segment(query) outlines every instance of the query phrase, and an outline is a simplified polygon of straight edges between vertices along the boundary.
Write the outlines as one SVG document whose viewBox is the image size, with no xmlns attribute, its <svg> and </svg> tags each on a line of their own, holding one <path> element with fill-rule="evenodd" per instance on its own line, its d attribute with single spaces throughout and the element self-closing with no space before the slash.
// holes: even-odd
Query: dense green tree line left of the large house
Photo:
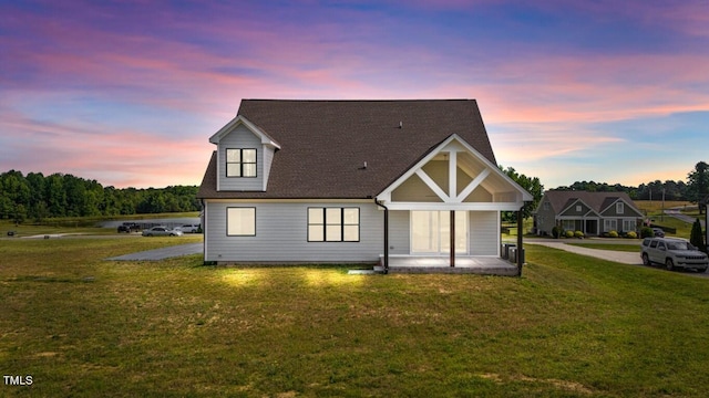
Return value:
<svg viewBox="0 0 709 398">
<path fill-rule="evenodd" d="M 100 217 L 199 211 L 198 187 L 162 189 L 103 187 L 70 174 L 10 170 L 0 174 L 0 219 L 42 222 L 59 217 Z"/>
</svg>

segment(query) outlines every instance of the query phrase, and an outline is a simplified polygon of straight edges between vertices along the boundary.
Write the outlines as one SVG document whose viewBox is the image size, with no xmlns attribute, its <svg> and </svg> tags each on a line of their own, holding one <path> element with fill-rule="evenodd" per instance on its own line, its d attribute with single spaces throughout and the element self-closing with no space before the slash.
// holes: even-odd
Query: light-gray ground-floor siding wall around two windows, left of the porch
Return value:
<svg viewBox="0 0 709 398">
<path fill-rule="evenodd" d="M 229 207 L 256 208 L 255 237 L 227 237 Z M 360 209 L 359 242 L 308 242 L 309 207 Z M 205 261 L 234 263 L 352 263 L 379 261 L 383 211 L 373 202 L 207 201 Z"/>
</svg>

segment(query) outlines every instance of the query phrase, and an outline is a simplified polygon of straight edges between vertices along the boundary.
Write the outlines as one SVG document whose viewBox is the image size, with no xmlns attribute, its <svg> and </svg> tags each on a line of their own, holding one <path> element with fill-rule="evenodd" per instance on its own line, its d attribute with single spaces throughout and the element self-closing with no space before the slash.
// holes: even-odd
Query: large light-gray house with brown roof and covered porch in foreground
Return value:
<svg viewBox="0 0 709 398">
<path fill-rule="evenodd" d="M 532 200 L 472 100 L 244 100 L 209 142 L 205 262 L 499 258 L 500 212 Z"/>
</svg>

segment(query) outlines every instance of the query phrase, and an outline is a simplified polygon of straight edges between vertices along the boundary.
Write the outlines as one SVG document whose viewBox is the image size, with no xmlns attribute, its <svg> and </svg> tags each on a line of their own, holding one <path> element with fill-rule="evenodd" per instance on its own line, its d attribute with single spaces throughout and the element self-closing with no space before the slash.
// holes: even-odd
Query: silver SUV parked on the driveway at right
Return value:
<svg viewBox="0 0 709 398">
<path fill-rule="evenodd" d="M 709 256 L 689 242 L 677 238 L 645 238 L 640 247 L 643 264 L 665 264 L 669 271 L 675 268 L 707 271 Z"/>
</svg>

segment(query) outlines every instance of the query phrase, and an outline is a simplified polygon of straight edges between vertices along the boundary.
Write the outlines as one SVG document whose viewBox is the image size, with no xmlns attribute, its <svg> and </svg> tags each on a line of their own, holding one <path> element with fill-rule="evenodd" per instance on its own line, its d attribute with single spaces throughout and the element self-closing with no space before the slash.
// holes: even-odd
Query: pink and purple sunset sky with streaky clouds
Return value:
<svg viewBox="0 0 709 398">
<path fill-rule="evenodd" d="M 709 161 L 706 0 L 0 0 L 0 171 L 198 185 L 242 98 L 475 98 L 546 188 Z"/>
</svg>

